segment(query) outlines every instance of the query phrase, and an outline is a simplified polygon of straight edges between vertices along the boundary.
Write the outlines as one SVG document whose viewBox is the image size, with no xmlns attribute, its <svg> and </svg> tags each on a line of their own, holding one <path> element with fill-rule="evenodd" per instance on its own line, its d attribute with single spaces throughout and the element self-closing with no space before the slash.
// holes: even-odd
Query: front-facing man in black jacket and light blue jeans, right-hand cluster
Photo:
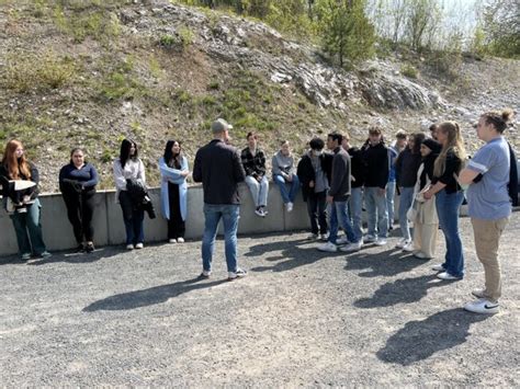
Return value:
<svg viewBox="0 0 520 389">
<path fill-rule="evenodd" d="M 365 165 L 364 202 L 369 213 L 369 233 L 365 243 L 386 244 L 388 211 L 386 209 L 386 184 L 388 183 L 388 149 L 378 127 L 369 129 L 369 139 L 363 146 Z M 377 227 L 376 227 L 377 221 Z"/>
</svg>

